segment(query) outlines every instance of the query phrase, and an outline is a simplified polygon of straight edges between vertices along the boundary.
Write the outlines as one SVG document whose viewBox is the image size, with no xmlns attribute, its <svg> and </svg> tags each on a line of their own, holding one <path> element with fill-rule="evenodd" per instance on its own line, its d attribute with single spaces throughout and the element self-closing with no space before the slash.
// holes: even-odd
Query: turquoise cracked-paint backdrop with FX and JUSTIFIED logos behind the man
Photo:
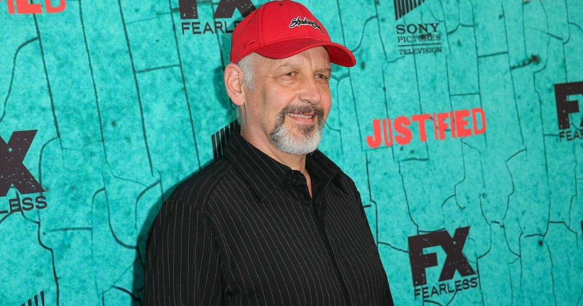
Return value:
<svg viewBox="0 0 583 306">
<path fill-rule="evenodd" d="M 262 0 L 0 0 L 0 304 L 141 305 L 145 237 L 236 131 Z M 320 149 L 397 305 L 583 305 L 583 2 L 300 1 L 354 52 Z"/>
</svg>

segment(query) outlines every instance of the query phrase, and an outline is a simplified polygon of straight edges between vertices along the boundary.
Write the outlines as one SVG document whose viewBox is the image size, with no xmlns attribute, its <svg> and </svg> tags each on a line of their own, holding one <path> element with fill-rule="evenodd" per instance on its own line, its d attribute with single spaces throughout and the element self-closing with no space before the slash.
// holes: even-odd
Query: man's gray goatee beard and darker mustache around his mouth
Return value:
<svg viewBox="0 0 583 306">
<path fill-rule="evenodd" d="M 301 136 L 296 136 L 285 126 L 287 112 L 314 112 L 318 116 L 318 121 L 312 125 L 304 125 L 301 128 Z M 314 152 L 318 149 L 320 140 L 322 140 L 322 131 L 324 130 L 324 111 L 322 108 L 304 105 L 303 107 L 287 106 L 279 112 L 278 121 L 275 122 L 272 131 L 269 133 L 269 139 L 273 146 L 282 152 L 296 155 L 304 155 Z"/>
</svg>

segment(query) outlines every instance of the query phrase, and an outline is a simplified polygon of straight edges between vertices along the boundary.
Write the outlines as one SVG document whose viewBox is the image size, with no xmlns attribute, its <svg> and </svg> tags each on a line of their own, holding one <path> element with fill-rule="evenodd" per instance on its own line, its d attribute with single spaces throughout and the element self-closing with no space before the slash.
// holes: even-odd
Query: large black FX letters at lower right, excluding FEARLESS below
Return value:
<svg viewBox="0 0 583 306">
<path fill-rule="evenodd" d="M 413 286 L 427 284 L 425 269 L 437 266 L 437 254 L 423 254 L 423 249 L 436 247 L 437 245 L 441 245 L 445 254 L 447 254 L 439 277 L 440 282 L 452 279 L 455 270 L 458 270 L 462 276 L 476 274 L 470 266 L 468 259 L 462 254 L 463 245 L 466 243 L 469 230 L 469 226 L 457 228 L 453 238 L 449 237 L 447 231 L 444 230 L 409 237 L 409 260 L 411 261 Z"/>
</svg>

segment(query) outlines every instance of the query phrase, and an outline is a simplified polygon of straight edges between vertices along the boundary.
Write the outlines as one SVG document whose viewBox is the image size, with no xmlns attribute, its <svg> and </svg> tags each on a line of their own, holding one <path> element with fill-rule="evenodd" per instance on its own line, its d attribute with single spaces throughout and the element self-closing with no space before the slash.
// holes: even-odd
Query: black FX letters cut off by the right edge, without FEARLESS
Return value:
<svg viewBox="0 0 583 306">
<path fill-rule="evenodd" d="M 579 112 L 577 100 L 568 100 L 569 96 L 583 94 L 583 82 L 561 83 L 554 85 L 554 96 L 557 100 L 557 119 L 559 129 L 568 129 L 571 126 L 569 114 Z M 573 98 L 571 98 L 573 99 Z M 578 128 L 583 128 L 583 118 Z"/>
</svg>

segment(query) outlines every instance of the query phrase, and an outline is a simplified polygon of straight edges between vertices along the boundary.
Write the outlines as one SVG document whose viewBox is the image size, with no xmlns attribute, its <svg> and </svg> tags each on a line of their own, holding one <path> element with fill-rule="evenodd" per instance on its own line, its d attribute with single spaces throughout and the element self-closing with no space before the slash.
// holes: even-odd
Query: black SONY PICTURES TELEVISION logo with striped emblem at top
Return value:
<svg viewBox="0 0 583 306">
<path fill-rule="evenodd" d="M 425 0 L 394 0 L 395 20 L 401 19 Z M 397 23 L 397 46 L 399 55 L 441 52 L 439 23 Z"/>
</svg>

